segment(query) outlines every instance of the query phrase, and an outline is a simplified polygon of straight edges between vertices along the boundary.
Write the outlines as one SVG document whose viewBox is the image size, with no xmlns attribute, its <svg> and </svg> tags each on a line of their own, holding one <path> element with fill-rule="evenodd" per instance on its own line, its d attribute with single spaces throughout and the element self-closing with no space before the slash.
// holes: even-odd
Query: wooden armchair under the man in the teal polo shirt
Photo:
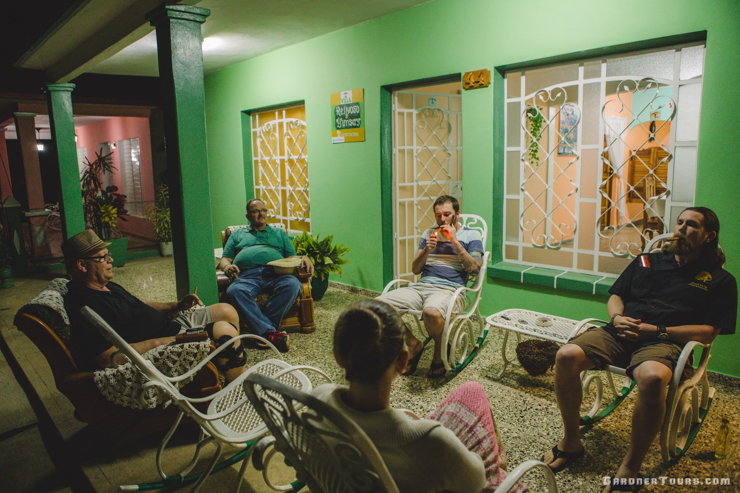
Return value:
<svg viewBox="0 0 740 493">
<path fill-rule="evenodd" d="M 269 223 L 272 228 L 281 228 L 285 230 L 285 225 L 280 222 Z M 221 246 L 226 248 L 226 242 L 234 231 L 238 229 L 249 228 L 249 225 L 229 226 L 221 231 Z M 283 322 L 280 322 L 280 330 L 286 331 L 294 327 L 300 327 L 300 332 L 304 334 L 313 333 L 316 330 L 314 324 L 314 299 L 311 296 L 311 275 L 306 269 L 299 268 L 295 276 L 303 285 L 303 290 L 298 294 L 295 303 L 283 316 Z M 218 301 L 226 303 L 226 288 L 229 288 L 231 279 L 226 277 L 223 271 L 216 271 L 216 281 L 218 282 Z M 260 295 L 255 298 L 260 307 L 266 305 L 269 295 Z"/>
</svg>

